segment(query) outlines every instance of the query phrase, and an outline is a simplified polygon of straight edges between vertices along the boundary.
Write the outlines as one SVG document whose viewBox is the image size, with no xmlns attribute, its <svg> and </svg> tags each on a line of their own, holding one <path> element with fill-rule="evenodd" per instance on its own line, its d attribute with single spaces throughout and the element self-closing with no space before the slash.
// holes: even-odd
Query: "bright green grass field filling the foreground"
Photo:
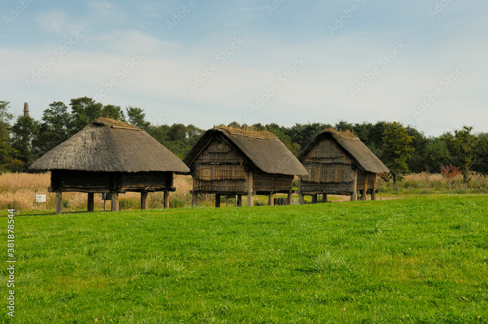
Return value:
<svg viewBox="0 0 488 324">
<path fill-rule="evenodd" d="M 488 323 L 487 209 L 438 196 L 21 213 L 16 317 L 1 307 L 0 323 Z"/>
</svg>

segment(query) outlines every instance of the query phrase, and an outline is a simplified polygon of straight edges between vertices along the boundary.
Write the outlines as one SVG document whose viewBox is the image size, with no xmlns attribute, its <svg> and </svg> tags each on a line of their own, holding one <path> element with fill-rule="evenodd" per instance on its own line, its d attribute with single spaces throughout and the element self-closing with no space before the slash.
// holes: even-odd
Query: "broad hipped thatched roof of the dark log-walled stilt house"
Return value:
<svg viewBox="0 0 488 324">
<path fill-rule="evenodd" d="M 188 172 L 184 163 L 141 129 L 98 119 L 62 142 L 30 169 L 102 172 Z"/>
</svg>

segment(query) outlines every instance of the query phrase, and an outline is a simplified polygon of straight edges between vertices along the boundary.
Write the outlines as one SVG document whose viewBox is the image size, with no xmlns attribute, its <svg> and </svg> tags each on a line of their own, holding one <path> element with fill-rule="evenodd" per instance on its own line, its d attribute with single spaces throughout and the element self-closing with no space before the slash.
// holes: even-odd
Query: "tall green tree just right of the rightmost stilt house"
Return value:
<svg viewBox="0 0 488 324">
<path fill-rule="evenodd" d="M 395 121 L 386 125 L 380 156 L 390 169 L 389 176 L 393 183 L 402 180 L 403 175 L 410 172 L 407 159 L 414 151 L 410 146 L 413 140 L 414 137 L 407 134 L 407 129 L 402 124 Z"/>
</svg>

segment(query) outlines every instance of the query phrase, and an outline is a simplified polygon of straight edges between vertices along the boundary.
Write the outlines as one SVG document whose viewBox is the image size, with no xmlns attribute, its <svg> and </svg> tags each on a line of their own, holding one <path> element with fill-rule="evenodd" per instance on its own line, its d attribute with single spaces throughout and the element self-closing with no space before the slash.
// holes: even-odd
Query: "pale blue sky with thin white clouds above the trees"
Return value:
<svg viewBox="0 0 488 324">
<path fill-rule="evenodd" d="M 40 119 L 53 101 L 88 96 L 139 106 L 154 124 L 386 120 L 434 136 L 463 125 L 488 132 L 486 0 L 0 8 L 0 100 L 17 114 L 29 102 Z"/>
</svg>

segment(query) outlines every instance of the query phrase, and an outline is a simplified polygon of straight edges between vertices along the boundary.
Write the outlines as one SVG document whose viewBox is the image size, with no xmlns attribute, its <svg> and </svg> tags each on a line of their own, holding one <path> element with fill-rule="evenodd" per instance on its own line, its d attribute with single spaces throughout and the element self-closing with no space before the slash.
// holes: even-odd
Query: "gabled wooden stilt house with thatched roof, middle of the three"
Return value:
<svg viewBox="0 0 488 324">
<path fill-rule="evenodd" d="M 215 194 L 216 207 L 221 195 L 236 196 L 238 206 L 247 195 L 252 206 L 254 195 L 268 195 L 273 205 L 273 196 L 285 193 L 291 204 L 294 176 L 307 174 L 275 135 L 225 127 L 207 130 L 183 162 L 193 177 L 194 206 L 198 194 Z"/>
</svg>

